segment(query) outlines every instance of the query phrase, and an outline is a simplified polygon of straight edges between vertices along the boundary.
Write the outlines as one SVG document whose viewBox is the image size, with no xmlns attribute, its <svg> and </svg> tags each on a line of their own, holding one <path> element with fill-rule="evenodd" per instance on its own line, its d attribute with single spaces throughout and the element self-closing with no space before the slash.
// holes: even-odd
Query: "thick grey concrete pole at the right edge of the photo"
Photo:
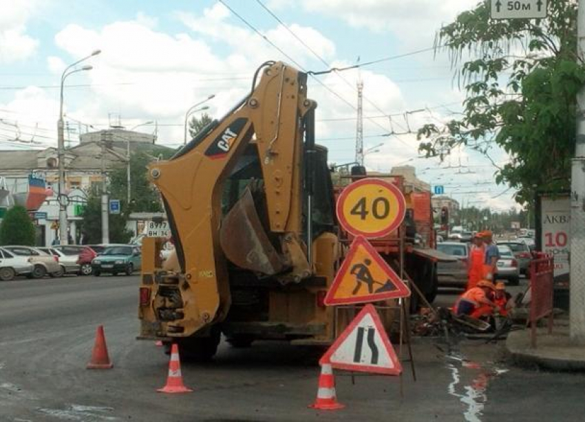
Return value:
<svg viewBox="0 0 585 422">
<path fill-rule="evenodd" d="M 585 58 L 585 0 L 577 12 L 577 58 Z M 575 158 L 571 172 L 571 340 L 585 344 L 585 87 L 577 93 Z"/>
</svg>

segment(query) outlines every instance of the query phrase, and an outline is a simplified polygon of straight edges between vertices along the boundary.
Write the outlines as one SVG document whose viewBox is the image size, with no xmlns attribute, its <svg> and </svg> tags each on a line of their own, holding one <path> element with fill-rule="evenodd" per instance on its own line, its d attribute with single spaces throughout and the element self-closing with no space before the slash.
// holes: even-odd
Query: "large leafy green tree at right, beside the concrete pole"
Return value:
<svg viewBox="0 0 585 422">
<path fill-rule="evenodd" d="M 546 19 L 494 21 L 489 1 L 482 1 L 442 27 L 437 50 L 447 51 L 458 70 L 463 113 L 418 131 L 429 156 L 460 145 L 487 155 L 493 143 L 501 146 L 511 160 L 498 167 L 496 181 L 518 189 L 519 203 L 529 203 L 535 188 L 570 186 L 575 96 L 585 82 L 576 55 L 577 4 L 550 0 L 548 12 Z"/>
</svg>

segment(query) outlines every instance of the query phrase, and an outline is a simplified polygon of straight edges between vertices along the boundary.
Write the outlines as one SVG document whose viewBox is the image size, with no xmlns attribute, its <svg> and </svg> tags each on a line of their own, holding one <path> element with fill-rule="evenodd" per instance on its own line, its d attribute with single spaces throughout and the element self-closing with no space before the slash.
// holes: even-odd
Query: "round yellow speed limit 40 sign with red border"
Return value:
<svg viewBox="0 0 585 422">
<path fill-rule="evenodd" d="M 377 238 L 401 225 L 405 208 L 404 195 L 393 184 L 381 179 L 361 179 L 339 195 L 337 218 L 354 236 Z"/>
</svg>

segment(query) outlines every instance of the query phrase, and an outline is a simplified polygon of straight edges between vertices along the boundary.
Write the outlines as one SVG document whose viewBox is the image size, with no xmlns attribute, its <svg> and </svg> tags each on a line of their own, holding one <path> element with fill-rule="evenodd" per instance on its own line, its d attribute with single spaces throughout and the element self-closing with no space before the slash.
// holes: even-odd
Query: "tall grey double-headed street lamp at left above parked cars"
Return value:
<svg viewBox="0 0 585 422">
<path fill-rule="evenodd" d="M 72 74 L 75 74 L 79 71 L 87 71 L 92 70 L 92 66 L 83 66 L 79 69 L 70 70 L 75 65 L 87 60 L 92 56 L 97 56 L 101 53 L 101 50 L 96 49 L 92 54 L 89 56 L 85 56 L 80 60 L 77 60 L 75 63 L 65 67 L 63 70 L 63 74 L 61 74 L 61 91 L 59 93 L 59 120 L 57 122 L 57 157 L 58 157 L 58 203 L 59 203 L 59 240 L 61 241 L 61 245 L 67 245 L 69 243 L 69 237 L 67 236 L 67 205 L 69 203 L 69 199 L 65 195 L 65 160 L 63 159 L 65 155 L 65 140 L 63 137 L 63 85 L 65 83 L 65 78 Z"/>
</svg>

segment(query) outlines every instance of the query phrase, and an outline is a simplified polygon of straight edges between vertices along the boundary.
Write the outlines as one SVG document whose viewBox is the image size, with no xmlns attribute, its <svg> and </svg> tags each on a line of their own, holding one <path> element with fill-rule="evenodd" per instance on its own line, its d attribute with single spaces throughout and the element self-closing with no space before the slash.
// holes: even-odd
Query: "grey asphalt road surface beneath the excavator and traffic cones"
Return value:
<svg viewBox="0 0 585 422">
<path fill-rule="evenodd" d="M 222 343 L 211 364 L 182 363 L 187 395 L 163 395 L 168 358 L 135 340 L 138 277 L 0 283 L 0 421 L 577 421 L 585 375 L 512 368 L 500 345 L 449 351 L 414 341 L 418 380 L 336 371 L 336 412 L 308 409 L 318 355 L 286 343 Z M 454 296 L 441 295 L 442 303 Z M 86 370 L 103 324 L 111 370 Z M 402 381 L 402 382 L 401 382 Z M 401 397 L 401 384 L 403 395 Z"/>
</svg>

